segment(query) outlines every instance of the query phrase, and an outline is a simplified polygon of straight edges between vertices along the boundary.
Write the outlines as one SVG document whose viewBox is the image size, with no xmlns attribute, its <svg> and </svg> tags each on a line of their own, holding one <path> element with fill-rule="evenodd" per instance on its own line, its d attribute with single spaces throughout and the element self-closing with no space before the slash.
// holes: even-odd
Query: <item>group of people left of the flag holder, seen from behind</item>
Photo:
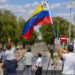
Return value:
<svg viewBox="0 0 75 75">
<path fill-rule="evenodd" d="M 18 62 L 23 58 L 24 74 L 32 75 L 32 63 L 34 54 L 28 48 L 27 52 L 23 55 L 19 47 L 13 48 L 11 44 L 6 44 L 6 50 L 0 48 L 0 75 L 17 75 L 16 69 Z M 15 50 L 19 50 L 19 57 L 15 57 Z M 37 61 L 35 68 L 35 75 L 42 75 L 42 54 L 37 53 Z"/>
</svg>

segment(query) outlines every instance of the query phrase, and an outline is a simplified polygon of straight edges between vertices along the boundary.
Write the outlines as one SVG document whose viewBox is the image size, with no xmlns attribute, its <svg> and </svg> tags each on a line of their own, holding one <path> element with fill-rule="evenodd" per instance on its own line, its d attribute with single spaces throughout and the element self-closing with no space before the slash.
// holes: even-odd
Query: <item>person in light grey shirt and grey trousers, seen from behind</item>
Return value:
<svg viewBox="0 0 75 75">
<path fill-rule="evenodd" d="M 31 75 L 32 63 L 33 63 L 34 54 L 31 52 L 31 49 L 28 48 L 27 52 L 24 54 L 24 73 L 25 75 Z"/>
</svg>

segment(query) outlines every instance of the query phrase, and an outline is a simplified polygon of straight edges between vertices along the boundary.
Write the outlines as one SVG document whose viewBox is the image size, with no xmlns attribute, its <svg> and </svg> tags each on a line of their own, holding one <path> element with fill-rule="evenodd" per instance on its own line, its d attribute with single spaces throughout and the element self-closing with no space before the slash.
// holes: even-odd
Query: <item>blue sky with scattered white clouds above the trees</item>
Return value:
<svg viewBox="0 0 75 75">
<path fill-rule="evenodd" d="M 37 6 L 45 0 L 0 0 L 0 9 L 7 9 L 13 12 L 18 18 L 22 16 L 25 20 L 37 8 Z M 48 0 L 52 17 L 60 16 L 70 20 L 70 8 L 72 8 L 73 22 L 75 14 L 75 1 L 74 0 Z M 72 3 L 72 5 L 71 5 Z M 38 30 L 39 27 L 35 27 Z"/>
</svg>

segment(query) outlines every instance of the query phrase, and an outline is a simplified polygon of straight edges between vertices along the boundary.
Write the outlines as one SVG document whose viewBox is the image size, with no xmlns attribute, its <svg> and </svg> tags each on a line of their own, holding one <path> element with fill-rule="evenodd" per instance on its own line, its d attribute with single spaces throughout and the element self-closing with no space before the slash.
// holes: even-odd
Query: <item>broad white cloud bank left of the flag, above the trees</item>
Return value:
<svg viewBox="0 0 75 75">
<path fill-rule="evenodd" d="M 17 17 L 24 17 L 24 18 L 28 18 L 33 11 L 35 10 L 35 8 L 39 5 L 38 2 L 34 2 L 33 4 L 26 4 L 26 5 L 9 5 L 9 4 L 3 4 L 0 5 L 0 9 L 6 9 L 6 10 L 10 10 L 11 12 L 13 12 Z"/>
</svg>

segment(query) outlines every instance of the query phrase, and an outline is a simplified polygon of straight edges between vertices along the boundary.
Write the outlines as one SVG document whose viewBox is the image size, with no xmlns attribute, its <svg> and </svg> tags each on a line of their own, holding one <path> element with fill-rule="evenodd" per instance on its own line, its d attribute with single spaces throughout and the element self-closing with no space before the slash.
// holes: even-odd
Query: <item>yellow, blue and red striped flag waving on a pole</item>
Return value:
<svg viewBox="0 0 75 75">
<path fill-rule="evenodd" d="M 25 23 L 22 31 L 23 37 L 26 40 L 31 38 L 34 26 L 45 24 L 51 24 L 50 14 L 49 11 L 44 11 L 40 4 Z"/>
</svg>

